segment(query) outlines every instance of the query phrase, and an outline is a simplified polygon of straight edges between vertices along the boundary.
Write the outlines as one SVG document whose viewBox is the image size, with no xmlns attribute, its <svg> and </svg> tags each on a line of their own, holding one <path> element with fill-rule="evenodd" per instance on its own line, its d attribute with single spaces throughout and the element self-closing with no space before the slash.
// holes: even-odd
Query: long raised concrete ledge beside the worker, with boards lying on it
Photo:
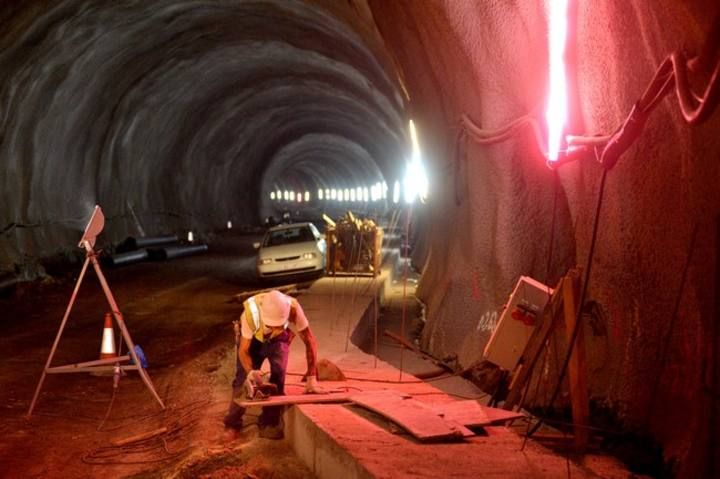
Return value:
<svg viewBox="0 0 720 479">
<path fill-rule="evenodd" d="M 299 297 L 318 340 L 319 357 L 334 362 L 347 376 L 343 382 L 321 382 L 348 391 L 392 390 L 428 405 L 455 401 L 431 384 L 366 354 L 353 336 L 375 332 L 375 301 L 390 282 L 378 278 L 323 278 Z M 291 348 L 290 374 L 305 370 L 302 342 Z M 289 379 L 287 393 L 301 392 Z M 286 412 L 286 437 L 296 454 L 319 478 L 556 478 L 627 477 L 622 467 L 598 475 L 567 462 L 504 427 L 488 427 L 486 435 L 459 442 L 421 444 L 399 428 L 372 420 L 347 405 L 304 404 Z"/>
</svg>

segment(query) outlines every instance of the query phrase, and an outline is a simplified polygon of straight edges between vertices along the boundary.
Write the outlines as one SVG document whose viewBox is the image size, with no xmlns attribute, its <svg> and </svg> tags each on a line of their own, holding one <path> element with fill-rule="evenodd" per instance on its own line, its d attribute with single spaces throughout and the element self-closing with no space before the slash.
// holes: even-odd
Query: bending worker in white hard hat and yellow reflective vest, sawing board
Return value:
<svg viewBox="0 0 720 479">
<path fill-rule="evenodd" d="M 235 323 L 237 372 L 232 384 L 233 398 L 242 397 L 247 387 L 246 380 L 253 385 L 263 382 L 260 368 L 265 359 L 270 363 L 269 382 L 277 387 L 276 394 L 285 394 L 290 342 L 296 334 L 305 344 L 305 392 L 323 392 L 317 384 L 317 343 L 302 306 L 295 298 L 271 290 L 247 299 L 243 313 Z M 225 427 L 232 431 L 240 430 L 244 413 L 245 408 L 230 401 L 224 419 Z M 282 439 L 282 413 L 282 406 L 263 408 L 258 418 L 260 437 Z"/>
</svg>

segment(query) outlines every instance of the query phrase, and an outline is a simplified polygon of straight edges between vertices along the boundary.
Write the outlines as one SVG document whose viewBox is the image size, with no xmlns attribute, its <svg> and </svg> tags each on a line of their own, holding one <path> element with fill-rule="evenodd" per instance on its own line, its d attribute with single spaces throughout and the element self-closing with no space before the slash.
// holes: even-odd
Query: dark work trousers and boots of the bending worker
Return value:
<svg viewBox="0 0 720 479">
<path fill-rule="evenodd" d="M 260 369 L 267 359 L 270 363 L 270 382 L 277 386 L 278 395 L 285 394 L 285 373 L 287 372 L 288 353 L 290 351 L 290 332 L 285 330 L 273 339 L 264 342 L 253 338 L 250 343 L 250 358 L 253 369 Z M 247 374 L 240 364 L 240 359 L 235 351 L 235 380 L 233 381 L 233 398 L 241 397 L 243 383 Z M 283 406 L 264 407 L 258 418 L 258 427 L 278 426 L 283 413 Z M 225 416 L 224 423 L 227 427 L 241 428 L 242 417 L 245 408 L 238 406 L 235 401 L 230 401 L 230 408 Z"/>
</svg>

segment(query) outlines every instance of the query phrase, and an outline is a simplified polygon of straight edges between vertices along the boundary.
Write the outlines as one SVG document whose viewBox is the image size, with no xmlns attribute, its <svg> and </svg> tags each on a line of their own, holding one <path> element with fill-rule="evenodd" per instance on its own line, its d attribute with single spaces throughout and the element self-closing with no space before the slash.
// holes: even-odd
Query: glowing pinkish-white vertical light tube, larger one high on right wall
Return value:
<svg viewBox="0 0 720 479">
<path fill-rule="evenodd" d="M 567 84 L 565 81 L 565 38 L 567 35 L 568 0 L 552 0 L 548 19 L 550 92 L 545 121 L 548 125 L 548 159 L 555 161 L 560 151 L 567 117 Z"/>
</svg>

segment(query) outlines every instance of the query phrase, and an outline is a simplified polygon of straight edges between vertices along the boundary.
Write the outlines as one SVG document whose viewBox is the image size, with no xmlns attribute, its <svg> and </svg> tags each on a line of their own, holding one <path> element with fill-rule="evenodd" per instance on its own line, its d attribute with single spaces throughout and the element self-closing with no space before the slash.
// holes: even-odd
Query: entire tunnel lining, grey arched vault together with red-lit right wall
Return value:
<svg viewBox="0 0 720 479">
<path fill-rule="evenodd" d="M 77 269 L 95 205 L 110 247 L 401 211 L 425 351 L 470 368 L 518 278 L 578 267 L 595 426 L 720 475 L 717 2 L 30 0 L 0 44 L 5 284 Z"/>
</svg>

